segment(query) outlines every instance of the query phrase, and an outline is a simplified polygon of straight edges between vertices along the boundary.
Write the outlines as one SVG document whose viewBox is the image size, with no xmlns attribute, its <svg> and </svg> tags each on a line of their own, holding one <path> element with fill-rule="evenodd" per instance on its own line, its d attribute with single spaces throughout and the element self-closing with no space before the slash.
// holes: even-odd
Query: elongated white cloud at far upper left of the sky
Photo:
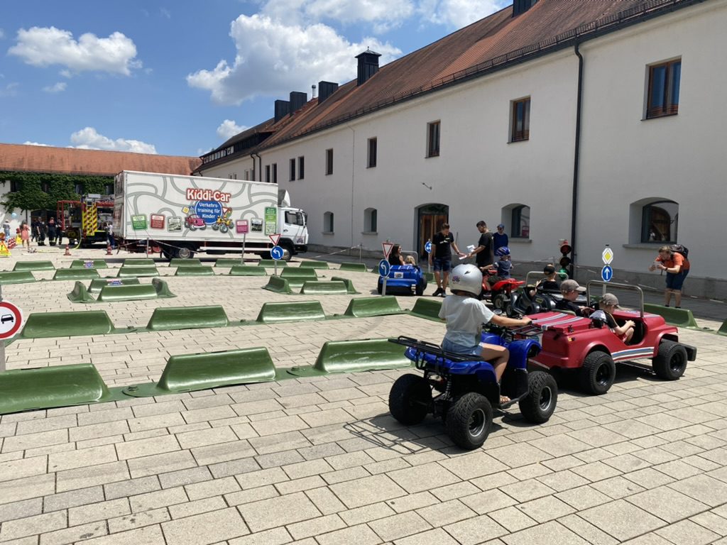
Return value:
<svg viewBox="0 0 727 545">
<path fill-rule="evenodd" d="M 65 67 L 64 75 L 100 71 L 129 76 L 134 68 L 141 67 L 141 61 L 135 59 L 134 41 L 120 32 L 108 38 L 81 34 L 76 41 L 73 34 L 55 27 L 33 27 L 27 31 L 21 28 L 17 31 L 17 44 L 8 53 L 33 66 L 61 65 Z"/>
</svg>

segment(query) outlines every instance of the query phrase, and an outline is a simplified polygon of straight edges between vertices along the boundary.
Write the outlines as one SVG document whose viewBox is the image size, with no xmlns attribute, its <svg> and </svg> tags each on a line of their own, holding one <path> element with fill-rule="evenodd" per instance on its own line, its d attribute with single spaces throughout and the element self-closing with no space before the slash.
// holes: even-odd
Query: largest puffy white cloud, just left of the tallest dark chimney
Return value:
<svg viewBox="0 0 727 545">
<path fill-rule="evenodd" d="M 198 70 L 187 83 L 209 90 L 218 104 L 239 104 L 260 95 L 286 96 L 304 91 L 319 80 L 344 83 L 356 76 L 356 57 L 371 47 L 381 53 L 381 64 L 401 51 L 375 38 L 351 43 L 333 28 L 316 25 L 285 25 L 265 15 L 240 15 L 230 36 L 237 54 L 232 65 L 220 60 L 212 70 Z"/>
</svg>

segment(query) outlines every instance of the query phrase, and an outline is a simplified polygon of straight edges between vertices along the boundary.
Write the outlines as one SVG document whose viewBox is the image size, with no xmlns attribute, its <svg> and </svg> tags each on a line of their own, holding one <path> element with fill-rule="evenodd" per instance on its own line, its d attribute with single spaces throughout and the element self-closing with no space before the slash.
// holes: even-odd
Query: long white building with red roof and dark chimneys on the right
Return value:
<svg viewBox="0 0 727 545">
<path fill-rule="evenodd" d="M 198 174 L 261 179 L 308 211 L 311 243 L 420 254 L 502 222 L 515 260 L 569 239 L 579 278 L 662 286 L 664 243 L 690 249 L 688 293 L 727 299 L 727 0 L 518 0 L 358 78 L 291 93 Z M 590 278 L 594 278 L 593 275 Z"/>
</svg>

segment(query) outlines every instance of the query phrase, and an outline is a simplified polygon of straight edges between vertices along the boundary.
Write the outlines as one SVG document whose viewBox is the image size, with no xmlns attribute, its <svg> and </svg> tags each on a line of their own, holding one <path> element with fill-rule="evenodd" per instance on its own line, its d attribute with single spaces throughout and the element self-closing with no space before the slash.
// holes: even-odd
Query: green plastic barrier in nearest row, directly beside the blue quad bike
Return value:
<svg viewBox="0 0 727 545">
<path fill-rule="evenodd" d="M 404 350 L 387 339 L 329 341 L 321 348 L 313 367 L 292 367 L 288 372 L 294 376 L 316 376 L 409 367 L 411 361 L 404 356 Z"/>
</svg>

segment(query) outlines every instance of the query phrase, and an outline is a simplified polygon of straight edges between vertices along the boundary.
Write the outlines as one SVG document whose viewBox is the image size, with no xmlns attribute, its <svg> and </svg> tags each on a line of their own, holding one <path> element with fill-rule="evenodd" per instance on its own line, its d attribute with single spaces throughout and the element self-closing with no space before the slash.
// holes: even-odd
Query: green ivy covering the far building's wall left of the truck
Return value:
<svg viewBox="0 0 727 545">
<path fill-rule="evenodd" d="M 76 185 L 84 194 L 106 193 L 113 176 L 84 176 L 83 174 L 47 174 L 44 172 L 0 172 L 0 182 L 8 180 L 17 188 L 5 195 L 1 204 L 7 210 L 53 210 L 58 201 L 78 201 Z M 44 190 L 45 189 L 45 190 Z"/>
</svg>

